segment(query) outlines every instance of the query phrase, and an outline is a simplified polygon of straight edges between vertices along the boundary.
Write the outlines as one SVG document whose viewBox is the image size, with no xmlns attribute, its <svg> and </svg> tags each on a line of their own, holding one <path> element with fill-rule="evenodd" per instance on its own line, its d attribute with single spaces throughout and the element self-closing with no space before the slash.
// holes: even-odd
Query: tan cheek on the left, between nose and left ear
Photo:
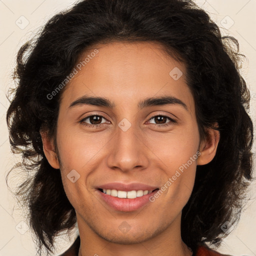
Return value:
<svg viewBox="0 0 256 256">
<path fill-rule="evenodd" d="M 84 201 L 90 201 L 87 191 L 93 180 L 90 176 L 93 176 L 93 172 L 98 168 L 100 155 L 108 140 L 105 136 L 100 136 L 99 139 L 96 132 L 85 134 L 68 127 L 58 130 L 61 179 L 73 207 L 81 206 L 82 201 L 78 200 L 81 195 Z"/>
</svg>

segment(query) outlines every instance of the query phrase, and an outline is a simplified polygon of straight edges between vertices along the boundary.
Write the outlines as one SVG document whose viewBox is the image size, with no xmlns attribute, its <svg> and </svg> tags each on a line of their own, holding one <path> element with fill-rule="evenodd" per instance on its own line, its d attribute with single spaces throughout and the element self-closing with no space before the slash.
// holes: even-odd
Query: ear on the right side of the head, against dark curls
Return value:
<svg viewBox="0 0 256 256">
<path fill-rule="evenodd" d="M 218 124 L 214 123 L 214 127 L 218 127 Z M 197 158 L 197 165 L 209 163 L 213 159 L 216 154 L 219 137 L 218 130 L 207 129 L 206 138 L 201 141 L 199 146 L 200 155 Z"/>
</svg>

